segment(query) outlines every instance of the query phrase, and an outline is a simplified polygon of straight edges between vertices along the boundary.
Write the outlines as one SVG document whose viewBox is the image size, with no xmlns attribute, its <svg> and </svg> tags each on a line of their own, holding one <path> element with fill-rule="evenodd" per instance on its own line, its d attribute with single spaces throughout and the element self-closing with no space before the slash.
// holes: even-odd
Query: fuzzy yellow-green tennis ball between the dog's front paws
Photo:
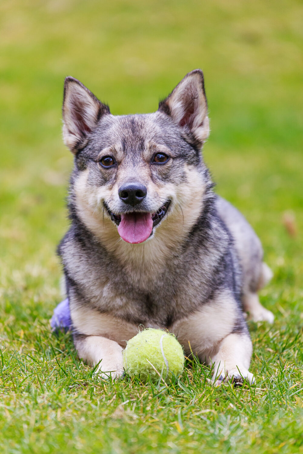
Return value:
<svg viewBox="0 0 303 454">
<path fill-rule="evenodd" d="M 147 328 L 130 339 L 123 350 L 123 366 L 130 376 L 137 376 L 142 381 L 149 377 L 159 380 L 163 369 L 163 378 L 171 378 L 182 373 L 184 353 L 174 335 L 167 331 Z"/>
</svg>

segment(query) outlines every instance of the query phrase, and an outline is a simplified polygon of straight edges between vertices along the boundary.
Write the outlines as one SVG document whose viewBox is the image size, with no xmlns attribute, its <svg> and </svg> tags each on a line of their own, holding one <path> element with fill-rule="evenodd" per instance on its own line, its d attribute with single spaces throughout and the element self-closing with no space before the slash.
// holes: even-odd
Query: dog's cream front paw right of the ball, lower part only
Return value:
<svg viewBox="0 0 303 454">
<path fill-rule="evenodd" d="M 252 350 L 252 342 L 245 332 L 228 334 L 220 341 L 218 349 L 210 358 L 211 364 L 214 364 L 215 383 L 233 380 L 237 384 L 243 383 L 245 379 L 253 383 L 253 374 L 248 371 Z"/>
</svg>

